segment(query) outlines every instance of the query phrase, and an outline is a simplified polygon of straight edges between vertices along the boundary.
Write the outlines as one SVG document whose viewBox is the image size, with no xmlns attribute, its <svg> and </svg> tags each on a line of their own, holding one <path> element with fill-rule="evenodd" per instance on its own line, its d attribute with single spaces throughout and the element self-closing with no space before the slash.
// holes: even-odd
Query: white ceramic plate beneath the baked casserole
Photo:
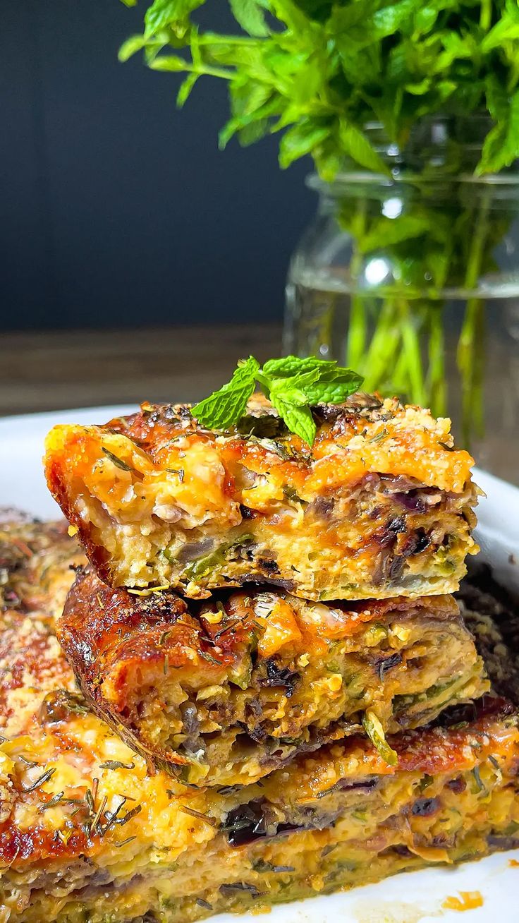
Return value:
<svg viewBox="0 0 519 923">
<path fill-rule="evenodd" d="M 41 472 L 43 438 L 56 423 L 103 423 L 131 413 L 134 407 L 96 407 L 56 414 L 28 414 L 0 420 L 0 507 L 18 506 L 51 519 L 59 510 L 49 495 Z M 487 497 L 479 504 L 478 540 L 501 581 L 519 589 L 519 489 L 485 472 L 477 473 Z M 519 868 L 513 853 L 500 853 L 456 869 L 427 869 L 396 875 L 378 884 L 344 894 L 280 905 L 265 923 L 482 923 L 501 917 L 519 919 Z M 518 857 L 517 851 L 515 857 Z M 448 896 L 478 892 L 483 904 L 460 917 L 442 904 Z M 250 923 L 263 917 L 249 914 L 211 917 L 215 923 Z"/>
</svg>

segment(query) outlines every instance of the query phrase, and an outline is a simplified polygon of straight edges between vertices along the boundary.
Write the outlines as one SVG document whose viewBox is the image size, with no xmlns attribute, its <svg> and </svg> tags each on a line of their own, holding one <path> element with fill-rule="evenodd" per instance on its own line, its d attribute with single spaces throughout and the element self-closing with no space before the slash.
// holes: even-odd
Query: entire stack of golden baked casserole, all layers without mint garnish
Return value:
<svg viewBox="0 0 519 923">
<path fill-rule="evenodd" d="M 449 595 L 472 460 L 395 401 L 315 413 L 312 449 L 262 402 L 225 432 L 144 405 L 50 434 L 89 561 L 57 622 L 82 695 L 53 647 L 63 693 L 16 719 L 53 773 L 13 762 L 6 918 L 176 923 L 513 843 L 505 644 L 485 623 L 478 653 Z"/>
</svg>

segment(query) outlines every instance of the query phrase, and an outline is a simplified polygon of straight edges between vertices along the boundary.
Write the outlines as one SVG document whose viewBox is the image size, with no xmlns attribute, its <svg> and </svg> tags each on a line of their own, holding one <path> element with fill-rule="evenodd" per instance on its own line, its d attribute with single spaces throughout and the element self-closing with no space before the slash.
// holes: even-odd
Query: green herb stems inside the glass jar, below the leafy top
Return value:
<svg viewBox="0 0 519 923">
<path fill-rule="evenodd" d="M 485 301 L 473 293 L 479 278 L 495 268 L 493 252 L 510 226 L 512 211 L 493 213 L 493 187 L 481 189 L 454 178 L 438 201 L 427 183 L 423 189 L 415 186 L 418 195 L 407 198 L 404 210 L 391 221 L 383 215 L 380 199 L 341 202 L 337 221 L 350 234 L 353 253 L 348 361 L 356 357 L 365 390 L 397 394 L 431 407 L 437 416 L 449 413 L 457 388 L 461 408 L 456 435 L 470 448 L 471 440 L 484 431 L 487 349 Z M 362 285 L 355 292 L 367 261 L 379 257 L 391 266 L 392 281 L 370 289 Z M 466 293 L 457 336 L 457 315 L 451 316 L 456 308 L 446 300 L 446 291 L 458 305 Z M 451 344 L 457 384 L 446 378 Z M 450 394 L 449 385 L 454 389 Z"/>
</svg>

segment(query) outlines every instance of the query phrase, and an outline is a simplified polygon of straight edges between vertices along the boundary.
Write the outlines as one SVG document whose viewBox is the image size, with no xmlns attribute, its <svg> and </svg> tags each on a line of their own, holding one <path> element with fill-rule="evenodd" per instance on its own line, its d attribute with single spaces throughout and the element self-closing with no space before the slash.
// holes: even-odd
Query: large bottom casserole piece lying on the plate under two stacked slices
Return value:
<svg viewBox="0 0 519 923">
<path fill-rule="evenodd" d="M 56 559 L 27 538 L 1 540 L 2 923 L 189 923 L 519 845 L 519 731 L 496 698 L 390 737 L 393 765 L 354 736 L 251 785 L 149 773 L 89 711 L 53 635 L 49 579 L 62 593 L 73 543 Z M 499 677 L 500 657 L 516 664 L 489 627 Z"/>
</svg>

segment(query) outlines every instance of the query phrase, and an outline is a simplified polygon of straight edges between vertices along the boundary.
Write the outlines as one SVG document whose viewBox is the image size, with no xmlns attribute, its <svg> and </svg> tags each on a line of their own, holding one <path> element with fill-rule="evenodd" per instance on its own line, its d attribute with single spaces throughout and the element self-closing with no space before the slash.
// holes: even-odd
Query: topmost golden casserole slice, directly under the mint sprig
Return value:
<svg viewBox="0 0 519 923">
<path fill-rule="evenodd" d="M 360 394 L 313 415 L 312 448 L 259 397 L 225 431 L 187 405 L 55 426 L 47 483 L 113 586 L 204 597 L 256 581 L 313 600 L 457 589 L 477 489 L 450 422 Z"/>
</svg>

